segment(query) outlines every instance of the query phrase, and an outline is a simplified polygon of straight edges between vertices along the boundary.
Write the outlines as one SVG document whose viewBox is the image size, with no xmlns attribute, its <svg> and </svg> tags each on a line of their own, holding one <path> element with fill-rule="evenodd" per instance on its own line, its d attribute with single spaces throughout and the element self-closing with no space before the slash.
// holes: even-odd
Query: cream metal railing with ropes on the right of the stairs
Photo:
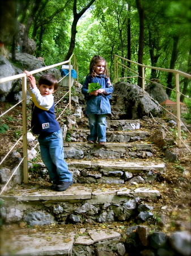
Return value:
<svg viewBox="0 0 191 256">
<path fill-rule="evenodd" d="M 142 67 L 142 73 L 143 73 L 143 77 L 139 76 L 138 72 L 137 71 L 134 71 L 132 68 L 128 67 L 127 65 L 124 65 L 123 63 L 121 63 L 119 60 L 125 60 L 127 62 L 129 62 L 130 64 L 134 64 L 135 66 L 140 66 Z M 128 77 L 119 77 L 118 76 L 118 73 L 119 73 L 119 67 L 121 68 L 125 68 L 126 71 L 130 72 L 130 73 L 133 73 L 133 74 L 136 74 L 136 76 L 128 76 Z M 135 78 L 135 77 L 141 77 L 142 79 L 142 91 L 145 92 L 145 81 L 150 81 L 150 82 L 153 82 L 155 84 L 158 84 L 157 82 L 154 82 L 154 81 L 151 81 L 149 79 L 146 79 L 146 74 L 145 74 L 145 68 L 148 68 L 148 69 L 155 69 L 157 71 L 164 71 L 164 72 L 171 72 L 171 73 L 174 73 L 175 74 L 175 84 L 176 84 L 176 89 L 172 89 L 172 88 L 168 88 L 167 86 L 164 86 L 162 85 L 165 89 L 168 88 L 168 89 L 171 89 L 173 92 L 176 93 L 176 109 L 177 109 L 177 117 L 175 115 L 173 115 L 171 112 L 173 117 L 175 117 L 177 119 L 177 140 L 178 140 L 178 146 L 181 147 L 181 142 L 182 142 L 182 139 L 181 139 L 181 119 L 180 119 L 180 86 L 179 86 L 179 75 L 181 76 L 184 76 L 186 77 L 187 79 L 191 79 L 191 75 L 189 75 L 188 73 L 184 73 L 182 71 L 178 71 L 176 69 L 165 69 L 165 68 L 156 68 L 156 67 L 150 67 L 150 66 L 147 66 L 147 65 L 143 65 L 143 64 L 139 64 L 135 61 L 131 61 L 131 60 L 128 60 L 128 59 L 125 59 L 124 57 L 120 57 L 118 55 L 114 55 L 114 83 L 116 83 L 116 81 L 118 80 L 124 80 L 124 79 L 127 79 L 127 78 Z M 122 71 L 122 70 L 121 70 Z M 160 84 L 161 85 L 161 84 Z M 186 97 L 186 96 L 185 96 Z M 186 97 L 190 100 L 189 97 Z M 152 98 L 152 100 L 154 100 Z M 160 105 L 160 104 L 159 104 Z M 160 105 L 160 108 L 162 108 L 162 106 Z M 168 111 L 167 109 L 163 108 L 165 111 Z M 187 129 L 188 130 L 188 129 Z M 190 133 L 190 132 L 189 132 Z"/>
</svg>

